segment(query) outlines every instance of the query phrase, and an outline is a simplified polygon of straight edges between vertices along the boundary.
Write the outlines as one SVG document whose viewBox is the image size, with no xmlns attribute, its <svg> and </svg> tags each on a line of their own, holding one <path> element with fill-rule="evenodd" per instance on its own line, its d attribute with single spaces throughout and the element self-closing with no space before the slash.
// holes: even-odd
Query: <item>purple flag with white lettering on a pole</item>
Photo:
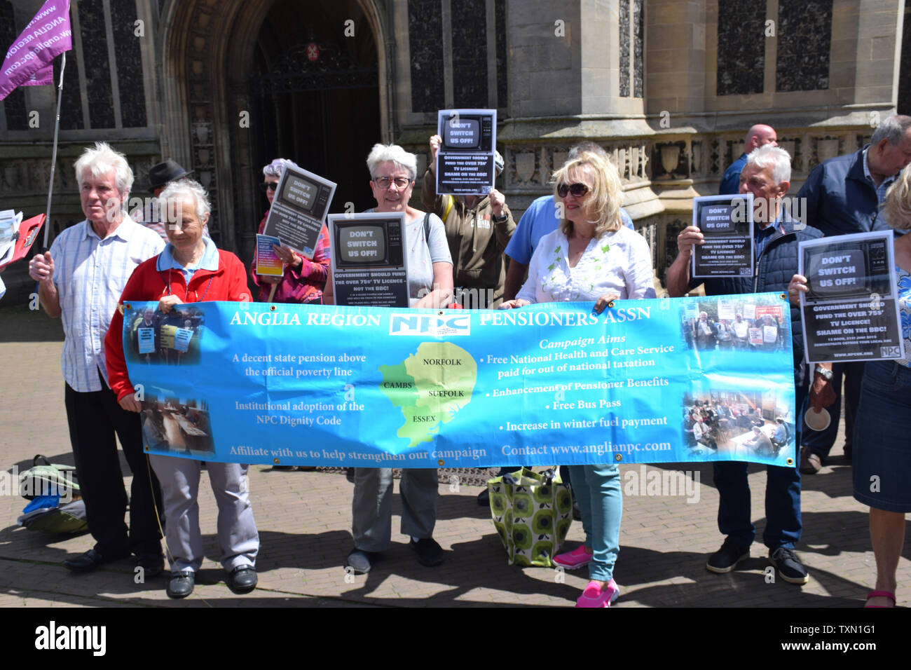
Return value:
<svg viewBox="0 0 911 670">
<path fill-rule="evenodd" d="M 16 87 L 53 83 L 51 63 L 71 48 L 69 0 L 47 0 L 6 52 L 0 67 L 0 100 Z"/>
</svg>

